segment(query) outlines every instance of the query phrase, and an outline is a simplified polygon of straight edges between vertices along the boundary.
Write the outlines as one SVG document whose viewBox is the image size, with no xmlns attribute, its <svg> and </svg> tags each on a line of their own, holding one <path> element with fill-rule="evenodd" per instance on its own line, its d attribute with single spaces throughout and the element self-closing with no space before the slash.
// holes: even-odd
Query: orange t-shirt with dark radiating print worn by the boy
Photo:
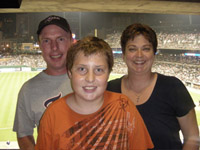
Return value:
<svg viewBox="0 0 200 150">
<path fill-rule="evenodd" d="M 135 105 L 125 95 L 105 91 L 95 113 L 82 115 L 67 104 L 69 95 L 47 108 L 36 150 L 146 150 L 153 144 Z"/>
</svg>

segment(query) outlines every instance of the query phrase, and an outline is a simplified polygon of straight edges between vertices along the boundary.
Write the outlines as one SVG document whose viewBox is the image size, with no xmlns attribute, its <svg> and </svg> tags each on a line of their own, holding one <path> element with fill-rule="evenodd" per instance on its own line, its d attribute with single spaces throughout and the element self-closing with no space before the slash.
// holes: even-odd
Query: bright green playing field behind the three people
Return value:
<svg viewBox="0 0 200 150">
<path fill-rule="evenodd" d="M 12 131 L 17 95 L 22 84 L 35 76 L 38 72 L 8 72 L 0 73 L 0 141 L 16 141 L 16 134 Z M 121 75 L 111 74 L 110 79 Z M 110 80 L 109 79 L 109 80 Z M 191 92 L 198 105 L 200 93 Z M 200 107 L 196 109 L 198 124 L 200 125 Z"/>
</svg>

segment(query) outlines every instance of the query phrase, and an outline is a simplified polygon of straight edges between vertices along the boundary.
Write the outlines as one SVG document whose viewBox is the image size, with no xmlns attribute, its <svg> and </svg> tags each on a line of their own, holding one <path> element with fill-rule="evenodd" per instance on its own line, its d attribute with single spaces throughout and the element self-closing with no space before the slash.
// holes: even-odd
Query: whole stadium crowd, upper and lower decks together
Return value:
<svg viewBox="0 0 200 150">
<path fill-rule="evenodd" d="M 113 49 L 120 48 L 121 33 L 108 34 L 105 39 Z M 163 49 L 200 50 L 200 33 L 196 34 L 167 34 L 158 33 L 158 47 Z M 112 73 L 126 74 L 126 65 L 121 54 L 114 54 L 115 63 Z M 165 75 L 176 76 L 185 84 L 197 85 L 200 88 L 200 57 L 185 56 L 183 53 L 158 53 L 153 71 Z M 32 68 L 46 68 L 40 54 L 7 55 L 0 58 L 0 66 L 29 66 Z"/>
</svg>

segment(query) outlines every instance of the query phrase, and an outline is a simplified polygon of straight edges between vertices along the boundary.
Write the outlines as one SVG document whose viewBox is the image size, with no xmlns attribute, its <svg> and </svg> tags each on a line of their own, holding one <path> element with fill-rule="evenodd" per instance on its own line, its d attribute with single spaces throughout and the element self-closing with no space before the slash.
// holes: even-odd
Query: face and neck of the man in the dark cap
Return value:
<svg viewBox="0 0 200 150">
<path fill-rule="evenodd" d="M 47 63 L 45 72 L 50 75 L 66 73 L 66 55 L 72 43 L 70 33 L 56 25 L 44 27 L 39 35 L 42 56 Z"/>
</svg>

